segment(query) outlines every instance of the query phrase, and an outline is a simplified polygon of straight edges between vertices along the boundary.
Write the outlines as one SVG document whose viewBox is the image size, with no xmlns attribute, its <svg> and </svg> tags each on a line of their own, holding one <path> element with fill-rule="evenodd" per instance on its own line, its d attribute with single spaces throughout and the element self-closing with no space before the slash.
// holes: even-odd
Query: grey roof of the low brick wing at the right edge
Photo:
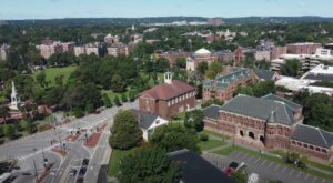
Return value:
<svg viewBox="0 0 333 183">
<path fill-rule="evenodd" d="M 322 148 L 333 146 L 333 133 L 305 124 L 297 124 L 291 139 Z"/>
</svg>

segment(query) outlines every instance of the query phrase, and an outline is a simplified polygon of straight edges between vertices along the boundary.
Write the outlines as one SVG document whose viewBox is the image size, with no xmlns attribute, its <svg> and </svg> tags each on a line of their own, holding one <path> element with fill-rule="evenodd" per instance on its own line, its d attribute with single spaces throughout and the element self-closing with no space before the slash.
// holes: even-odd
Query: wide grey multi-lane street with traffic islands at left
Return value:
<svg viewBox="0 0 333 183">
<path fill-rule="evenodd" d="M 89 159 L 84 182 L 95 182 L 99 167 L 109 161 L 111 149 L 108 143 L 110 128 L 113 124 L 113 116 L 119 110 L 138 108 L 138 101 L 133 103 L 124 103 L 120 108 L 111 108 L 101 111 L 99 114 L 90 114 L 81 119 L 73 119 L 70 123 L 48 130 L 30 136 L 26 136 L 0 146 L 0 160 L 16 159 L 19 161 L 20 171 L 43 172 L 43 160 L 48 159 L 48 163 L 53 163 L 51 171 L 46 176 L 44 182 L 75 182 L 79 175 L 71 175 L 71 169 L 77 169 L 78 173 L 82 166 L 82 160 Z M 93 148 L 83 145 L 85 142 L 85 133 L 81 134 L 74 142 L 65 141 L 71 131 L 87 130 L 87 135 L 97 132 L 97 126 L 107 125 L 101 132 L 99 143 Z M 53 143 L 51 143 L 53 141 Z M 60 146 L 65 143 L 65 146 Z M 52 152 L 52 149 L 65 149 L 68 154 L 62 156 Z M 23 175 L 22 175 L 23 176 Z M 20 179 L 17 179 L 20 180 Z M 19 182 L 19 181 L 17 181 Z M 34 182 L 34 180 L 32 180 Z"/>
</svg>

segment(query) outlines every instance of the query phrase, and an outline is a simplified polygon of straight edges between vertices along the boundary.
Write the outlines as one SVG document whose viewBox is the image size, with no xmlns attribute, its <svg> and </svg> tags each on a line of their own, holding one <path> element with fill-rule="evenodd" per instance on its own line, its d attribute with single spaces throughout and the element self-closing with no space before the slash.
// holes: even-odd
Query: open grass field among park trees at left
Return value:
<svg viewBox="0 0 333 183">
<path fill-rule="evenodd" d="M 70 74 L 77 69 L 78 67 L 65 67 L 65 68 L 49 68 L 46 69 L 44 72 L 47 74 L 47 81 L 50 82 L 51 85 L 54 84 L 54 78 L 58 75 L 63 75 L 63 82 L 67 82 Z M 41 71 L 37 71 L 33 74 L 33 78 Z"/>
</svg>

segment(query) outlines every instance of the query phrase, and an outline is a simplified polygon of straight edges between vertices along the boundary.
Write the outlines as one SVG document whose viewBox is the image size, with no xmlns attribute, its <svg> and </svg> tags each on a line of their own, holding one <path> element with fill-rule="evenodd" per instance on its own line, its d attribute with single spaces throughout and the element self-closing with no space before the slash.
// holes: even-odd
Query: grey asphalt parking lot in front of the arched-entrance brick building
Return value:
<svg viewBox="0 0 333 183">
<path fill-rule="evenodd" d="M 282 164 L 251 156 L 242 152 L 233 152 L 228 157 L 218 154 L 204 154 L 204 159 L 223 170 L 231 162 L 244 162 L 249 173 L 258 173 L 264 180 L 280 180 L 284 183 L 330 183 L 332 181 L 323 180 L 310 174 L 305 174 L 292 167 Z"/>
</svg>

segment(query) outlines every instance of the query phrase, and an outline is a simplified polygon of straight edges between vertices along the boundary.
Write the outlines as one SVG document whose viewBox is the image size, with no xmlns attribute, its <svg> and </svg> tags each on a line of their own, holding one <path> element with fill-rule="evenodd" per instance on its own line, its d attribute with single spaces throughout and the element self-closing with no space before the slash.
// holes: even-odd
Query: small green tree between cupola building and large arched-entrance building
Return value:
<svg viewBox="0 0 333 183">
<path fill-rule="evenodd" d="M 202 110 L 194 110 L 185 113 L 184 125 L 186 128 L 193 128 L 196 132 L 203 130 L 203 112 Z"/>
</svg>

